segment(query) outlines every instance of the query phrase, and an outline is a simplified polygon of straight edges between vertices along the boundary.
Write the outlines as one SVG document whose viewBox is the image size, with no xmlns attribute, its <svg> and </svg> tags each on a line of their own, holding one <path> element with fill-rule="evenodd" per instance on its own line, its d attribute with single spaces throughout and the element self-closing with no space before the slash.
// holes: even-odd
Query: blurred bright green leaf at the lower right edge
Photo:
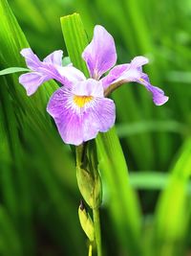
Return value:
<svg viewBox="0 0 191 256">
<path fill-rule="evenodd" d="M 166 189 L 161 193 L 156 212 L 155 255 L 176 255 L 184 244 L 189 226 L 191 204 L 187 201 L 187 190 L 191 176 L 191 139 L 185 141 L 172 173 L 167 180 Z M 182 253 L 182 252 L 181 252 Z M 179 254 L 178 254 L 179 255 Z M 183 255 L 183 253 L 181 254 Z"/>
</svg>

